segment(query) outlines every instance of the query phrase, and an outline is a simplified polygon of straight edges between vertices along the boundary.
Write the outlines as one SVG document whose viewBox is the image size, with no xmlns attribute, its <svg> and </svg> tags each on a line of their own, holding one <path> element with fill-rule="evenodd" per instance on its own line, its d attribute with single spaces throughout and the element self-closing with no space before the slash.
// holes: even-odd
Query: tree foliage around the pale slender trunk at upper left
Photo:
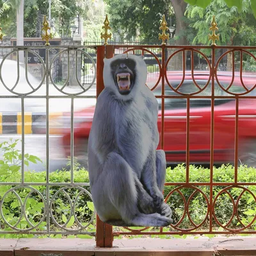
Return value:
<svg viewBox="0 0 256 256">
<path fill-rule="evenodd" d="M 65 35 L 70 35 L 70 25 L 77 15 L 82 17 L 86 14 L 86 6 L 92 0 L 52 0 L 51 17 L 58 31 L 65 31 Z M 7 36 L 16 36 L 16 10 L 19 0 L 0 0 L 0 19 L 3 33 Z M 24 37 L 36 36 L 36 26 L 38 26 L 38 13 L 47 15 L 49 13 L 49 0 L 26 0 L 24 2 Z M 42 20 L 40 20 L 42 26 Z M 61 32 L 60 32 L 61 33 Z"/>
</svg>

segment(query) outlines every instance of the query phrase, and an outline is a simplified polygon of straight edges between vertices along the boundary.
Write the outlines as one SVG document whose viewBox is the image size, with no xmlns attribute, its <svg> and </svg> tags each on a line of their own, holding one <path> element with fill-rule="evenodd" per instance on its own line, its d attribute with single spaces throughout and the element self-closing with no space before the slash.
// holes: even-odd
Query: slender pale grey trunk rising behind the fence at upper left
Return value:
<svg viewBox="0 0 256 256">
<path fill-rule="evenodd" d="M 17 45 L 24 45 L 24 0 L 17 8 Z M 20 63 L 24 63 L 24 51 L 19 51 Z"/>
</svg>

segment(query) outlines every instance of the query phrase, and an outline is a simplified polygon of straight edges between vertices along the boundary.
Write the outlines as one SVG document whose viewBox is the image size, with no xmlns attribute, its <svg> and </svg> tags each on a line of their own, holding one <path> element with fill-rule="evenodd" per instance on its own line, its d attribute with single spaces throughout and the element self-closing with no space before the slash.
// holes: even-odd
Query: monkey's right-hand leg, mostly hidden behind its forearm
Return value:
<svg viewBox="0 0 256 256">
<path fill-rule="evenodd" d="M 164 189 L 164 182 L 166 177 L 166 157 L 164 150 L 156 150 L 156 178 L 157 186 L 160 191 Z M 172 210 L 168 204 L 161 204 L 161 214 L 170 218 L 172 216 Z"/>
</svg>

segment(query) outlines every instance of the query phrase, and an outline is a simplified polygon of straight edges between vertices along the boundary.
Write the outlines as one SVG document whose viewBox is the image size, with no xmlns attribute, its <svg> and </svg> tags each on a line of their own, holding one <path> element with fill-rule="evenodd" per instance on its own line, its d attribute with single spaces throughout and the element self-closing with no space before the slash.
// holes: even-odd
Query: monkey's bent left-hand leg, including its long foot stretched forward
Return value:
<svg viewBox="0 0 256 256">
<path fill-rule="evenodd" d="M 109 198 L 122 220 L 127 225 L 162 227 L 170 224 L 170 219 L 161 214 L 143 214 L 138 209 L 138 192 L 134 173 L 125 159 L 111 152 L 101 173 L 104 179 L 104 194 Z"/>
</svg>

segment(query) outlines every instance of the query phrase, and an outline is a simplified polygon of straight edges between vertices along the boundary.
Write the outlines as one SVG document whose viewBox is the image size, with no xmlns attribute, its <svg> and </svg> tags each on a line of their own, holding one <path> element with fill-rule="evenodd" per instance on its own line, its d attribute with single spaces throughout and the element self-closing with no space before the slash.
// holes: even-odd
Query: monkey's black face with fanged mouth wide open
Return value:
<svg viewBox="0 0 256 256">
<path fill-rule="evenodd" d="M 111 63 L 111 73 L 120 94 L 127 95 L 131 92 L 136 76 L 135 67 L 135 61 L 129 58 Z"/>
</svg>

